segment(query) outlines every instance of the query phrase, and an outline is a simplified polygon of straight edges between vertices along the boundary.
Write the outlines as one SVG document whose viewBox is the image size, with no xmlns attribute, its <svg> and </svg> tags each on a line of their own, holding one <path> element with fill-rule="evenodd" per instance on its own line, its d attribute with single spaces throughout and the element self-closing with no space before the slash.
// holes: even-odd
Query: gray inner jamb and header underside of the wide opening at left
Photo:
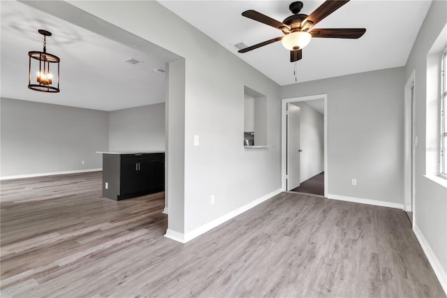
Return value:
<svg viewBox="0 0 447 298">
<path fill-rule="evenodd" d="M 53 7 L 45 1 L 29 1 L 27 5 L 54 14 Z M 57 17 L 71 22 L 79 27 L 97 33 L 105 38 L 122 43 L 133 50 L 150 52 L 161 61 L 166 61 L 166 104 L 165 104 L 165 212 L 168 213 L 168 233 L 184 228 L 179 216 L 184 209 L 184 97 L 185 97 L 185 59 L 170 52 L 149 40 L 136 36 L 129 31 L 120 29 L 105 20 L 89 15 L 84 10 L 64 1 L 59 1 Z M 86 15 L 88 16 L 86 19 Z M 89 20 L 89 22 L 83 22 Z M 175 226 L 175 229 L 172 227 Z M 173 231 L 174 230 L 174 231 Z M 175 240 L 179 237 L 172 236 Z"/>
</svg>

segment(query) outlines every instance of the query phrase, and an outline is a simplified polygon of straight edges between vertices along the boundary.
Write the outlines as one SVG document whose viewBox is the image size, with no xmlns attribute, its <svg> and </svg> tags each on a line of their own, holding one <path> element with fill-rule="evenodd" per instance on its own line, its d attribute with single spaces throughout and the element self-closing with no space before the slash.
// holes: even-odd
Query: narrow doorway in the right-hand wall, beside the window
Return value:
<svg viewBox="0 0 447 298">
<path fill-rule="evenodd" d="M 416 136 L 416 109 L 415 105 L 415 71 L 411 73 L 404 87 L 405 111 L 405 161 L 404 161 L 404 211 L 409 217 L 411 225 L 415 213 L 415 154 L 418 145 Z"/>
</svg>

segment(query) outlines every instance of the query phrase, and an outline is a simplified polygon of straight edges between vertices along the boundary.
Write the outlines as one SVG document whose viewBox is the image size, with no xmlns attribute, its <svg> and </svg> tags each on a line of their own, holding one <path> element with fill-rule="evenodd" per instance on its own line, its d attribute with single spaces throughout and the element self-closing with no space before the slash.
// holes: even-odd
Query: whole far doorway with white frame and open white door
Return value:
<svg viewBox="0 0 447 298">
<path fill-rule="evenodd" d="M 316 103 L 321 102 L 322 107 L 317 107 Z M 312 107 L 314 105 L 314 107 Z M 298 98 L 286 98 L 282 100 L 281 114 L 281 181 L 283 191 L 298 191 L 300 193 L 310 193 L 314 195 L 328 196 L 328 95 L 320 94 L 315 96 L 302 96 Z M 306 111 L 320 110 L 323 114 L 323 172 L 316 170 L 309 165 L 313 161 L 310 157 L 314 153 L 306 147 L 307 142 L 311 140 L 305 137 L 300 141 L 301 129 L 306 129 L 305 121 Z M 318 112 L 317 112 L 318 113 Z M 321 115 L 320 115 L 321 116 Z M 303 118 L 303 119 L 302 119 Z M 298 121 L 298 124 L 297 124 Z M 314 128 L 312 128 L 314 130 Z M 307 149 L 306 149 L 307 148 Z M 317 165 L 318 168 L 318 165 Z M 298 169 L 298 170 L 297 170 Z M 299 170 L 301 169 L 301 170 Z M 320 166 L 321 169 L 321 166 Z M 317 171 L 317 172 L 315 172 Z M 315 191 L 319 185 L 321 191 Z"/>
</svg>

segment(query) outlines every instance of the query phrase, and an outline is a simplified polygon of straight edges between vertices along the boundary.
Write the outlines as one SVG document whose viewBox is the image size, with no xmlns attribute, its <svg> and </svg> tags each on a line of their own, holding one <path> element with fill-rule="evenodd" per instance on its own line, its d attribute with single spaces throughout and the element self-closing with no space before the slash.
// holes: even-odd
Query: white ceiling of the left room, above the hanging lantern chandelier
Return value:
<svg viewBox="0 0 447 298">
<path fill-rule="evenodd" d="M 17 1 L 1 5 L 1 97 L 85 107 L 119 110 L 165 101 L 165 75 L 154 68 L 165 62 L 149 54 L 87 31 Z M 28 89 L 28 52 L 43 50 L 60 62 L 60 92 L 48 94 Z M 134 58 L 141 64 L 126 64 Z"/>
</svg>

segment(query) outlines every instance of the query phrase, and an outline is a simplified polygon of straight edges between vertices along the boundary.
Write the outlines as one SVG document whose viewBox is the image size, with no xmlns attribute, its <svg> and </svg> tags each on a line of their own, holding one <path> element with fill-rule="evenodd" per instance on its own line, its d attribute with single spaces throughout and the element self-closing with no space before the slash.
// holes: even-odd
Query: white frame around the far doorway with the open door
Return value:
<svg viewBox="0 0 447 298">
<path fill-rule="evenodd" d="M 307 100 L 324 100 L 324 196 L 328 198 L 328 94 L 284 98 L 281 103 L 281 190 L 286 191 L 286 112 L 288 103 Z"/>
</svg>

